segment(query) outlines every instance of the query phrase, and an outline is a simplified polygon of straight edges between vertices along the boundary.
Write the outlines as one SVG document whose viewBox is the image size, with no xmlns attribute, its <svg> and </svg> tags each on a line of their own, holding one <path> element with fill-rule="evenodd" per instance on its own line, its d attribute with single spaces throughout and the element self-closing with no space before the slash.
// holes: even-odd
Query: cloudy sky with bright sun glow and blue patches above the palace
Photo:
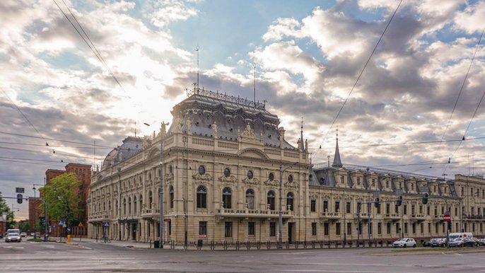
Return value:
<svg viewBox="0 0 485 273">
<path fill-rule="evenodd" d="M 6 0 L 0 25 L 4 197 L 158 132 L 197 71 L 255 88 L 295 146 L 303 117 L 312 163 L 332 162 L 338 127 L 344 164 L 485 173 L 485 1 Z"/>
</svg>

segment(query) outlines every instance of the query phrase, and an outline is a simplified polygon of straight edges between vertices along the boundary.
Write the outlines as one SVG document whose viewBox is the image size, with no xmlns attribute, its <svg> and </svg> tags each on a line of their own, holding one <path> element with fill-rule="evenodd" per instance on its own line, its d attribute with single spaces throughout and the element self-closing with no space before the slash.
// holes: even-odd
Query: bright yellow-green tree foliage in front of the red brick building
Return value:
<svg viewBox="0 0 485 273">
<path fill-rule="evenodd" d="M 77 223 L 77 219 L 83 208 L 79 207 L 80 197 L 78 195 L 79 186 L 74 173 L 64 173 L 50 180 L 49 185 L 40 188 L 40 192 L 45 192 L 47 202 L 47 212 L 50 221 L 65 219 L 66 225 Z M 41 206 L 44 211 L 44 206 Z"/>
</svg>

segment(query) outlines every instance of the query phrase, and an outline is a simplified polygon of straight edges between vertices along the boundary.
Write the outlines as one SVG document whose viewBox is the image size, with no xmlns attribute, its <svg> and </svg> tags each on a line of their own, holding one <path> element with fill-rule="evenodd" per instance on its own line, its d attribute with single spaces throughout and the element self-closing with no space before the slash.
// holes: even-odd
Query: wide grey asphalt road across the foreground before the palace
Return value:
<svg viewBox="0 0 485 273">
<path fill-rule="evenodd" d="M 1 240 L 0 272 L 485 272 L 485 247 L 184 251 Z"/>
</svg>

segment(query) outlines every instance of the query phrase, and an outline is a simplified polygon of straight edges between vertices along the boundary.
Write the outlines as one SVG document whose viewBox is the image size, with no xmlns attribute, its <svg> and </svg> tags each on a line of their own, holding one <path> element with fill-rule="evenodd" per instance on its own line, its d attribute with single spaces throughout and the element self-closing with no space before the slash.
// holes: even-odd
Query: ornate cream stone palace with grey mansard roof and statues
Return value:
<svg viewBox="0 0 485 273">
<path fill-rule="evenodd" d="M 485 235 L 481 176 L 443 181 L 344 165 L 338 139 L 332 165 L 313 165 L 303 126 L 293 146 L 264 104 L 221 93 L 191 91 L 172 114 L 168 131 L 127 137 L 93 172 L 88 236 L 159 239 L 160 150 L 165 241 L 276 242 L 280 198 L 289 243 L 444 237 L 448 212 L 451 232 Z"/>
</svg>

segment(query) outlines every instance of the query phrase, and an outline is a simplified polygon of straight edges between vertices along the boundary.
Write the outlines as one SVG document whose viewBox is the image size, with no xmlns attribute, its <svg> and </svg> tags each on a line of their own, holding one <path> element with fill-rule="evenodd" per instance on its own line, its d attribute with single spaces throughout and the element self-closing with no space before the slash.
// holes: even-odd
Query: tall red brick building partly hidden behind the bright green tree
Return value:
<svg viewBox="0 0 485 273">
<path fill-rule="evenodd" d="M 81 197 L 78 205 L 79 207 L 83 208 L 83 212 L 81 215 L 79 215 L 78 219 L 81 221 L 83 226 L 73 227 L 71 230 L 71 235 L 76 237 L 86 236 L 88 234 L 87 228 L 85 226 L 88 221 L 88 206 L 86 205 L 86 201 L 88 199 L 89 186 L 91 184 L 91 165 L 69 163 L 66 165 L 66 170 L 48 169 L 45 171 L 46 184 L 49 185 L 49 182 L 52 180 L 52 178 L 62 175 L 63 173 L 75 173 L 78 181 L 81 183 L 76 191 L 79 194 L 79 197 Z M 55 226 L 55 228 L 51 229 L 52 236 L 66 234 L 62 228 L 59 228 L 59 223 L 54 223 L 51 221 L 50 224 L 51 226 Z"/>
</svg>

